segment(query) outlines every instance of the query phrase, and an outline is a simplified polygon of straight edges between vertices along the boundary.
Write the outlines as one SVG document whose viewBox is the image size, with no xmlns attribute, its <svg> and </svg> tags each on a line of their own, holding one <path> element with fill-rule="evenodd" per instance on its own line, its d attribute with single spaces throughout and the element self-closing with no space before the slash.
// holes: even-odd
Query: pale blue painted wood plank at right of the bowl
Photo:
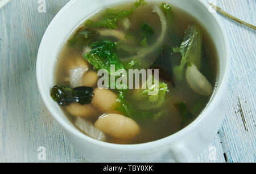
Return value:
<svg viewBox="0 0 256 174">
<path fill-rule="evenodd" d="M 255 25 L 255 1 L 215 2 L 223 10 Z M 232 52 L 228 105 L 220 129 L 223 151 L 228 162 L 255 162 L 255 31 L 223 16 L 221 19 Z"/>
</svg>

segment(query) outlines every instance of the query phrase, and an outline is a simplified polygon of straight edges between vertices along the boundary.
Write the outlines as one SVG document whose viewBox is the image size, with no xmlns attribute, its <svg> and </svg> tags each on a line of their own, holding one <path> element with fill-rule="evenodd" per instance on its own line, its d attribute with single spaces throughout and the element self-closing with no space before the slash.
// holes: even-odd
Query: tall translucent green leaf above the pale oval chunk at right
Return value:
<svg viewBox="0 0 256 174">
<path fill-rule="evenodd" d="M 184 40 L 179 48 L 182 56 L 181 63 L 179 66 L 174 67 L 174 75 L 177 80 L 183 80 L 184 67 L 187 63 L 192 63 L 198 69 L 201 68 L 202 38 L 199 26 L 188 26 Z"/>
</svg>

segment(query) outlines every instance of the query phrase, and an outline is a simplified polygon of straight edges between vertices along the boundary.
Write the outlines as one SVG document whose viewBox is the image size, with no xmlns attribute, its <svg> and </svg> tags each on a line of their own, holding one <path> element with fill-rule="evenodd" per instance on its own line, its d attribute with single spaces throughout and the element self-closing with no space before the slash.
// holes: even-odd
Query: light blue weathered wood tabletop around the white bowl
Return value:
<svg viewBox="0 0 256 174">
<path fill-rule="evenodd" d="M 43 33 L 67 2 L 46 0 L 46 13 L 38 12 L 37 0 L 11 0 L 0 9 L 0 162 L 86 162 L 47 111 L 36 84 Z M 255 0 L 210 2 L 256 25 Z M 219 16 L 232 49 L 228 106 L 219 133 L 196 160 L 256 162 L 255 31 Z M 40 146 L 46 147 L 43 161 Z"/>
</svg>

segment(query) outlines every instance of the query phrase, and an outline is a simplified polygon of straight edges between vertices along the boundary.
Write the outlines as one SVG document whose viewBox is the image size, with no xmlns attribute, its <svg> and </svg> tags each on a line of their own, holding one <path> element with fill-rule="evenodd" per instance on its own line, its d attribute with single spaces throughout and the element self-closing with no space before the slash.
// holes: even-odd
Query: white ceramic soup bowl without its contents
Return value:
<svg viewBox="0 0 256 174">
<path fill-rule="evenodd" d="M 101 142 L 77 129 L 50 96 L 50 90 L 55 85 L 57 57 L 71 33 L 98 10 L 125 2 L 131 1 L 72 0 L 59 11 L 49 24 L 38 52 L 36 75 L 43 101 L 55 120 L 63 127 L 72 145 L 89 162 L 194 162 L 196 156 L 207 148 L 216 136 L 225 116 L 230 66 L 229 44 L 224 27 L 216 12 L 204 0 L 165 0 L 187 11 L 203 24 L 213 39 L 218 56 L 216 89 L 204 111 L 184 129 L 158 141 L 138 145 Z"/>
</svg>

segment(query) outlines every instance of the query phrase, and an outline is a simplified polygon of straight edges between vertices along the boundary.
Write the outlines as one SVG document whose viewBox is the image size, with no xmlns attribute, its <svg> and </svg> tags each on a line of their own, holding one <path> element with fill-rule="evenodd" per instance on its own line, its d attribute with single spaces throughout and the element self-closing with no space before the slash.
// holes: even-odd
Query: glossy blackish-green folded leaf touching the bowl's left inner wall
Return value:
<svg viewBox="0 0 256 174">
<path fill-rule="evenodd" d="M 51 97 L 59 105 L 69 105 L 71 103 L 80 103 L 81 105 L 92 103 L 92 87 L 68 88 L 55 86 L 51 90 Z"/>
</svg>

